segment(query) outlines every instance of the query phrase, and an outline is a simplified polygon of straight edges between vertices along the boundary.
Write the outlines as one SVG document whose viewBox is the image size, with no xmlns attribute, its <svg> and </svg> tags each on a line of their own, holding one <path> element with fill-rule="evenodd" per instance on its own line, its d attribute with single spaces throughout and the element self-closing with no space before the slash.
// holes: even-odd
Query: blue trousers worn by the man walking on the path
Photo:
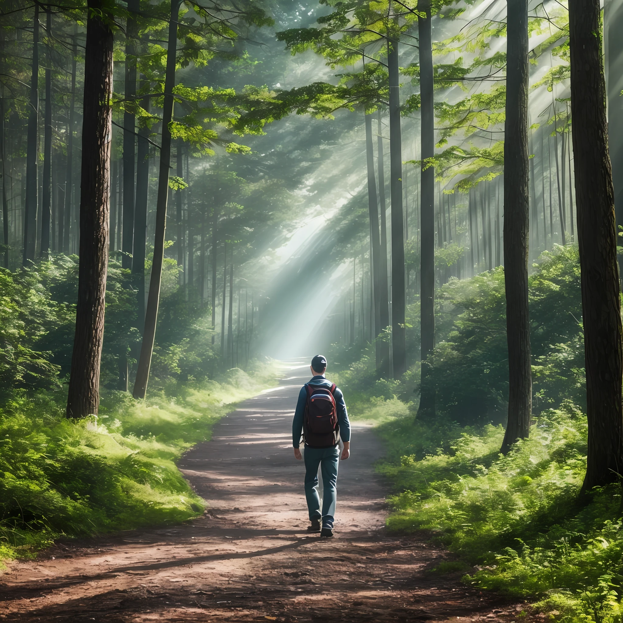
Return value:
<svg viewBox="0 0 623 623">
<path fill-rule="evenodd" d="M 337 499 L 338 461 L 340 446 L 332 448 L 310 448 L 305 446 L 305 498 L 310 513 L 310 521 L 322 520 L 323 528 L 333 528 L 335 502 Z M 318 466 L 322 474 L 323 497 L 320 513 L 318 496 Z"/>
</svg>

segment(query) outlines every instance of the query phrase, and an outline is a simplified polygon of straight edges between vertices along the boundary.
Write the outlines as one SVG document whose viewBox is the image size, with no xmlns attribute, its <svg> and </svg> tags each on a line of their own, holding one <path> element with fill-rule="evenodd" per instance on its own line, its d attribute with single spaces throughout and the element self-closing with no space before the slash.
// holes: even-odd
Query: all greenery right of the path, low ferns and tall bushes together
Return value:
<svg viewBox="0 0 623 623">
<path fill-rule="evenodd" d="M 388 528 L 419 531 L 457 554 L 435 573 L 475 569 L 465 582 L 529 600 L 548 620 L 622 623 L 621 490 L 579 498 L 587 427 L 577 247 L 533 265 L 535 419 L 506 457 L 504 292 L 502 267 L 439 288 L 426 379 L 432 419 L 416 416 L 417 363 L 401 379 L 379 379 L 369 348 L 336 375 L 354 419 L 377 424 L 384 440 L 377 468 L 392 488 Z"/>
</svg>

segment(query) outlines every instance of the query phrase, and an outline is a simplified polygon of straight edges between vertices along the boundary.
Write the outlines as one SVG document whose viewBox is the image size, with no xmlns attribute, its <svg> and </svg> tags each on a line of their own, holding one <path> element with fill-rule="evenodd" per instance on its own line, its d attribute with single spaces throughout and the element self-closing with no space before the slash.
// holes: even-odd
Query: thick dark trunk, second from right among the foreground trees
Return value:
<svg viewBox="0 0 623 623">
<path fill-rule="evenodd" d="M 506 454 L 530 433 L 532 376 L 528 313 L 528 0 L 508 0 L 504 126 L 504 272 L 508 342 Z"/>
</svg>

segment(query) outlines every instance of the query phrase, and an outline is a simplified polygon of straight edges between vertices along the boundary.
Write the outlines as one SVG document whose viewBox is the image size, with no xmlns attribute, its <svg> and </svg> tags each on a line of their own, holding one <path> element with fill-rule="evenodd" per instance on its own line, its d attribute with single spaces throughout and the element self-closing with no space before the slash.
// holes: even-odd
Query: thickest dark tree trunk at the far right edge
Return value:
<svg viewBox="0 0 623 623">
<path fill-rule="evenodd" d="M 588 418 L 584 492 L 619 480 L 623 470 L 621 303 L 600 34 L 599 0 L 570 0 L 571 118 Z"/>
</svg>

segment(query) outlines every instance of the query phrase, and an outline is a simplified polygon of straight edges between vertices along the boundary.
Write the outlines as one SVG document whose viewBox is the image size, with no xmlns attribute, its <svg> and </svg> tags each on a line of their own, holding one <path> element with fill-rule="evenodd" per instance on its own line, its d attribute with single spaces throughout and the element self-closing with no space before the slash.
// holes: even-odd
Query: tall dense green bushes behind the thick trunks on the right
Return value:
<svg viewBox="0 0 623 623">
<path fill-rule="evenodd" d="M 578 249 L 557 247 L 541 256 L 530 276 L 533 409 L 569 399 L 584 405 L 584 343 Z M 502 421 L 506 412 L 508 354 L 504 272 L 500 267 L 439 292 L 440 320 L 430 357 L 437 408 L 462 424 Z"/>
</svg>

